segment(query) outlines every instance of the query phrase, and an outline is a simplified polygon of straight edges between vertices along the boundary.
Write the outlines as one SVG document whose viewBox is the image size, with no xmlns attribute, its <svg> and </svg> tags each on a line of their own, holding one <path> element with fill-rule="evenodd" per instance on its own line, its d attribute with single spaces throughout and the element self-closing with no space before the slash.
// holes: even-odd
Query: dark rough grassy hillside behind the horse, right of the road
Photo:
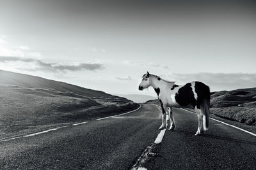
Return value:
<svg viewBox="0 0 256 170">
<path fill-rule="evenodd" d="M 158 100 L 147 103 L 159 104 Z M 210 111 L 218 117 L 256 125 L 256 88 L 212 92 Z"/>
</svg>

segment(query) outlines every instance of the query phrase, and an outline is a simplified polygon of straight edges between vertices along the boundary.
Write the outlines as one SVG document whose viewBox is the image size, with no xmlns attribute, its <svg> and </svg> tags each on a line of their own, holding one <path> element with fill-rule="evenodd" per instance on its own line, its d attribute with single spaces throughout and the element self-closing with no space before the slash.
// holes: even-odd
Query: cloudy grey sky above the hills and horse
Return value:
<svg viewBox="0 0 256 170">
<path fill-rule="evenodd" d="M 256 87 L 253 1 L 0 0 L 0 69 L 110 94 L 147 71 L 211 91 Z"/>
</svg>

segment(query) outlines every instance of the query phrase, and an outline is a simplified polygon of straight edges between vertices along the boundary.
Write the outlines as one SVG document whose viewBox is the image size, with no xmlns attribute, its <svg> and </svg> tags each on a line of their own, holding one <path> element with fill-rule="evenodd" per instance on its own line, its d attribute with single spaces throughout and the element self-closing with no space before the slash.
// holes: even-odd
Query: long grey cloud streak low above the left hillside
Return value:
<svg viewBox="0 0 256 170">
<path fill-rule="evenodd" d="M 97 71 L 100 69 L 104 69 L 103 64 L 98 63 L 79 63 L 79 64 L 60 64 L 60 63 L 51 63 L 51 62 L 44 62 L 38 59 L 32 58 L 24 58 L 24 57 L 9 57 L 9 56 L 0 56 L 0 62 L 26 62 L 28 64 L 34 64 L 35 67 L 31 68 L 23 68 L 24 70 L 29 71 L 81 71 L 81 70 L 88 70 L 88 71 Z"/>
</svg>

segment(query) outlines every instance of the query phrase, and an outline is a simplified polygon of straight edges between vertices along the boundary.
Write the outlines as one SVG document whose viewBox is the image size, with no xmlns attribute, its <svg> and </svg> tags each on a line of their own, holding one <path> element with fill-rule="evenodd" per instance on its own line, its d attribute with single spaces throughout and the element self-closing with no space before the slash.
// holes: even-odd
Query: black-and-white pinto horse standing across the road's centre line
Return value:
<svg viewBox="0 0 256 170">
<path fill-rule="evenodd" d="M 159 76 L 149 74 L 142 76 L 139 90 L 153 87 L 161 104 L 162 124 L 159 129 L 166 129 L 166 111 L 170 119 L 170 129 L 175 129 L 172 108 L 193 107 L 198 117 L 198 129 L 195 135 L 200 135 L 209 129 L 210 88 L 200 81 L 191 81 L 185 85 L 177 85 L 175 81 L 163 80 Z M 168 125 L 167 125 L 168 126 Z"/>
</svg>

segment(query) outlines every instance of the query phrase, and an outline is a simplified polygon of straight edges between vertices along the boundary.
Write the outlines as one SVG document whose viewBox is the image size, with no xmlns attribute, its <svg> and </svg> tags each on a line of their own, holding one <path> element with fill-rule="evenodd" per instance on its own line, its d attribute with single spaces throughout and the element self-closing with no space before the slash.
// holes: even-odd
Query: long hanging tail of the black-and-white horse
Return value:
<svg viewBox="0 0 256 170">
<path fill-rule="evenodd" d="M 202 103 L 200 104 L 200 109 L 203 113 L 203 127 L 204 127 L 204 131 L 207 131 L 209 128 L 209 115 L 210 115 L 210 98 L 211 98 L 211 94 L 210 94 L 210 89 L 208 86 L 206 86 L 207 88 L 205 89 L 205 96 L 204 99 L 202 100 Z"/>
</svg>

